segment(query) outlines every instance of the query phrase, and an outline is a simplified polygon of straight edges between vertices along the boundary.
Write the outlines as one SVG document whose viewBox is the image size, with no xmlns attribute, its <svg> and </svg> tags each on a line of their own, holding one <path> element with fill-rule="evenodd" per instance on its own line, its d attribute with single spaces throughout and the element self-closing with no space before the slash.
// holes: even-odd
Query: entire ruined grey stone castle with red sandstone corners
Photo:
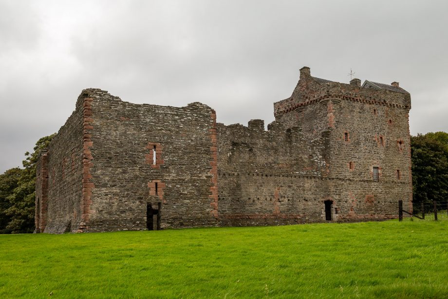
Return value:
<svg viewBox="0 0 448 299">
<path fill-rule="evenodd" d="M 411 209 L 410 94 L 300 69 L 275 121 L 216 123 L 205 104 L 85 89 L 37 162 L 36 232 L 278 225 Z"/>
</svg>

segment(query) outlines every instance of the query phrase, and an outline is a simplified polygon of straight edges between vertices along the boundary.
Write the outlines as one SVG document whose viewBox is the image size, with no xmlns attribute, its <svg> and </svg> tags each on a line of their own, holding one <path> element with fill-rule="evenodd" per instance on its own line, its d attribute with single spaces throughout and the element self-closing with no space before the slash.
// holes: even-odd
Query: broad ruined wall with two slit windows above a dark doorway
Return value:
<svg viewBox="0 0 448 299">
<path fill-rule="evenodd" d="M 84 231 L 146 229 L 147 203 L 160 203 L 162 228 L 216 225 L 214 111 L 200 103 L 133 104 L 102 91 L 91 97 L 92 204 Z"/>
</svg>

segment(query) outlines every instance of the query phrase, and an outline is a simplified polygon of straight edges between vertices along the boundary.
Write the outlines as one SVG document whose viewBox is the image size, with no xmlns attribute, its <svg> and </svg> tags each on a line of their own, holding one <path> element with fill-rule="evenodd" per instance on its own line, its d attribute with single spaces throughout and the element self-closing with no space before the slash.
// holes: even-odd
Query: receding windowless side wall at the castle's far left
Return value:
<svg viewBox="0 0 448 299">
<path fill-rule="evenodd" d="M 80 96 L 75 111 L 39 159 L 36 194 L 45 233 L 76 231 L 81 222 L 83 104 Z"/>
</svg>

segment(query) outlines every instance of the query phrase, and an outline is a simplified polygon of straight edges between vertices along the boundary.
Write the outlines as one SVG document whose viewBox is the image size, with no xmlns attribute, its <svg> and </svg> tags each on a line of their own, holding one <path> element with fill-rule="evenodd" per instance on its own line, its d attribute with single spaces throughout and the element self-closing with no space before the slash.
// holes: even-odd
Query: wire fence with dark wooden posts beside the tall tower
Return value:
<svg viewBox="0 0 448 299">
<path fill-rule="evenodd" d="M 412 211 L 403 209 L 403 200 L 398 201 L 398 219 L 403 215 L 411 216 L 411 220 L 448 220 L 448 201 L 412 202 Z"/>
</svg>

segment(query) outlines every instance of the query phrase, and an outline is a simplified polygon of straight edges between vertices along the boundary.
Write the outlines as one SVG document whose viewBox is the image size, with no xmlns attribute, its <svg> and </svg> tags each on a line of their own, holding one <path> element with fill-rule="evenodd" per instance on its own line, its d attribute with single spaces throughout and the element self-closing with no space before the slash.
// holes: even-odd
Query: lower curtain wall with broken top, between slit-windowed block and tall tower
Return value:
<svg viewBox="0 0 448 299">
<path fill-rule="evenodd" d="M 248 127 L 218 124 L 217 135 L 221 225 L 325 219 L 322 140 L 306 142 L 298 128 L 278 122 L 264 131 L 261 120 Z"/>
</svg>

